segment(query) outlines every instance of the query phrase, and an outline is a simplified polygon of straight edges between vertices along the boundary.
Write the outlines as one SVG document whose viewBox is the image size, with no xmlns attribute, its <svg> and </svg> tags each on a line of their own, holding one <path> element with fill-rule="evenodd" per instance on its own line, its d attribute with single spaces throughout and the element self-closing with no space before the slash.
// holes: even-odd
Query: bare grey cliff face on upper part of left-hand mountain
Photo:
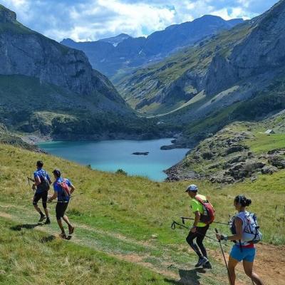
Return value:
<svg viewBox="0 0 285 285">
<path fill-rule="evenodd" d="M 82 51 L 67 48 L 21 26 L 16 14 L 0 11 L 0 74 L 21 74 L 39 78 L 81 95 L 102 93 L 123 104 L 108 79 L 93 71 Z"/>
</svg>

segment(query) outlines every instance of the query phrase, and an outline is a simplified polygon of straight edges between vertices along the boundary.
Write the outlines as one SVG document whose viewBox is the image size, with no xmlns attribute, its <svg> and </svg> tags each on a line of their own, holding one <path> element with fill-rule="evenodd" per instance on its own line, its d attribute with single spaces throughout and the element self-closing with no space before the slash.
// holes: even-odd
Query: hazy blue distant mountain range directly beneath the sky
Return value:
<svg viewBox="0 0 285 285">
<path fill-rule="evenodd" d="M 165 58 L 179 48 L 190 46 L 202 38 L 232 28 L 242 21 L 242 19 L 224 21 L 218 16 L 206 15 L 194 21 L 169 26 L 164 31 L 156 31 L 147 38 L 131 38 L 120 34 L 114 38 L 94 42 L 76 43 L 71 39 L 64 39 L 61 43 L 84 51 L 93 68 L 110 78 L 113 77 L 115 81 L 120 78 L 120 73 L 126 72 L 128 68 Z"/>
</svg>

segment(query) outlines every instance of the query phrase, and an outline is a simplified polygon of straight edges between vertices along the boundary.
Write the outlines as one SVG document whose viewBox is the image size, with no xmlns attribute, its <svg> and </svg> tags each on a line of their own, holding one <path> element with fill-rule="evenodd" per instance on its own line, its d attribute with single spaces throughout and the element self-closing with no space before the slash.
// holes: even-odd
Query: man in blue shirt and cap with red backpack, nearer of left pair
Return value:
<svg viewBox="0 0 285 285">
<path fill-rule="evenodd" d="M 66 239 L 66 233 L 64 231 L 61 219 L 68 224 L 69 234 L 73 234 L 74 227 L 69 222 L 65 212 L 68 207 L 71 194 L 74 192 L 74 190 L 76 190 L 76 188 L 72 185 L 70 180 L 61 177 L 60 170 L 53 170 L 53 176 L 55 178 L 55 182 L 53 182 L 54 193 L 53 196 L 48 199 L 48 202 L 51 202 L 56 198 L 58 199 L 58 202 L 56 203 L 56 220 L 58 222 L 58 226 L 61 228 L 61 237 Z"/>
</svg>

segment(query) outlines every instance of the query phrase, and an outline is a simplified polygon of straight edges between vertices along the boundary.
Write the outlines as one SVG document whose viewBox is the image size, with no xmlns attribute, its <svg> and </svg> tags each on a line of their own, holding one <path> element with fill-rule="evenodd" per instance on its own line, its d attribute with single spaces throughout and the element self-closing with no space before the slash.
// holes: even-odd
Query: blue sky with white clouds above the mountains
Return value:
<svg viewBox="0 0 285 285">
<path fill-rule="evenodd" d="M 18 20 L 61 41 L 95 41 L 128 33 L 147 36 L 204 14 L 224 19 L 257 16 L 277 0 L 2 0 Z"/>
</svg>

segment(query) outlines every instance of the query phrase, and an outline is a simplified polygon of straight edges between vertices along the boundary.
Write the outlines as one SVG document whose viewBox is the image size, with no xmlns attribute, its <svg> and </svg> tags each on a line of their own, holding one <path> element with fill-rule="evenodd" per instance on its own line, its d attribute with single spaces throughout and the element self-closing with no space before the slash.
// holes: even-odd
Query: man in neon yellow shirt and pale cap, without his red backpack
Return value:
<svg viewBox="0 0 285 285">
<path fill-rule="evenodd" d="M 197 185 L 189 185 L 187 187 L 186 192 L 192 198 L 190 202 L 190 207 L 192 212 L 195 214 L 195 220 L 193 223 L 193 227 L 190 229 L 190 232 L 186 238 L 187 243 L 194 250 L 194 252 L 199 257 L 197 264 L 195 267 L 203 266 L 203 268 L 212 269 L 212 265 L 210 264 L 207 251 L 204 248 L 203 239 L 209 229 L 209 224 L 204 224 L 203 222 L 199 222 L 201 214 L 203 214 L 204 209 L 203 205 L 195 199 L 195 197 L 199 197 L 202 200 L 207 200 L 203 195 L 198 195 L 198 187 Z M 196 239 L 197 244 L 194 242 Z"/>
</svg>

